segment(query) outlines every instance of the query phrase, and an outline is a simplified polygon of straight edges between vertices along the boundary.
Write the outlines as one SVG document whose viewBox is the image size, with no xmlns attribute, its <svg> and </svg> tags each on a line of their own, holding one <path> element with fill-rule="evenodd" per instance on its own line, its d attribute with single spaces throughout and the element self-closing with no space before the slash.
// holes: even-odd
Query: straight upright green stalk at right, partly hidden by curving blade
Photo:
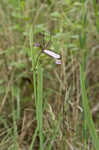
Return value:
<svg viewBox="0 0 99 150">
<path fill-rule="evenodd" d="M 82 50 L 82 68 L 85 72 L 86 67 L 86 28 L 87 28 L 87 10 L 86 10 L 86 1 L 82 0 L 82 19 L 81 19 L 82 30 L 80 34 L 80 47 Z M 83 100 L 82 100 L 83 101 Z M 82 102 L 83 103 L 83 102 Z M 85 108 L 84 108 L 85 109 Z M 87 124 L 86 117 L 84 112 L 84 122 L 83 122 L 83 139 L 84 139 L 84 150 L 87 148 Z"/>
</svg>

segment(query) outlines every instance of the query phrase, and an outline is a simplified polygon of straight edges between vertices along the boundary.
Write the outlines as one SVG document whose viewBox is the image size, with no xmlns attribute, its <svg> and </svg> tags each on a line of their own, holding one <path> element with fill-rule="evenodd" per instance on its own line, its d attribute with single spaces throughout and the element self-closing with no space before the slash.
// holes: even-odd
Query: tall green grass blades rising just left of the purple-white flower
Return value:
<svg viewBox="0 0 99 150">
<path fill-rule="evenodd" d="M 34 98 L 36 108 L 36 120 L 37 128 L 33 136 L 33 140 L 36 138 L 37 132 L 40 138 L 40 150 L 43 150 L 43 70 L 39 64 L 37 53 L 33 50 L 33 31 L 30 30 L 30 48 L 31 48 L 31 59 L 32 59 L 32 72 L 33 72 L 33 86 L 34 86 Z M 33 52 L 34 51 L 34 52 Z M 30 149 L 33 147 L 31 143 Z"/>
</svg>

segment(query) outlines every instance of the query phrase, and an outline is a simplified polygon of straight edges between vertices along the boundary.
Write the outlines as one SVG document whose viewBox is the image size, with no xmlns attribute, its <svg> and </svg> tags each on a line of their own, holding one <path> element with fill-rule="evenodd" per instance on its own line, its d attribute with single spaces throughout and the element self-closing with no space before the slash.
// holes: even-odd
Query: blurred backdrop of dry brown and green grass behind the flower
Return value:
<svg viewBox="0 0 99 150">
<path fill-rule="evenodd" d="M 51 4 L 50 4 L 51 3 Z M 60 5 L 61 4 L 61 5 Z M 88 7 L 86 84 L 96 129 L 99 128 L 99 35 L 93 5 Z M 52 48 L 62 64 L 42 56 L 43 135 L 47 150 L 60 124 L 51 150 L 83 149 L 83 108 L 80 86 L 82 50 L 79 45 L 81 3 L 64 1 L 0 2 L 0 150 L 28 150 L 37 127 L 30 60 L 30 27 L 52 33 Z M 57 12 L 57 13 L 56 13 Z M 56 13 L 56 14 L 55 14 Z M 42 25 L 43 24 L 43 25 Z M 35 37 L 35 34 L 34 34 Z M 40 40 L 40 39 L 38 39 Z M 60 116 L 63 121 L 59 121 Z M 16 139 L 15 139 L 15 138 Z M 93 149 L 89 132 L 87 149 Z M 39 149 L 39 135 L 34 150 Z"/>
</svg>

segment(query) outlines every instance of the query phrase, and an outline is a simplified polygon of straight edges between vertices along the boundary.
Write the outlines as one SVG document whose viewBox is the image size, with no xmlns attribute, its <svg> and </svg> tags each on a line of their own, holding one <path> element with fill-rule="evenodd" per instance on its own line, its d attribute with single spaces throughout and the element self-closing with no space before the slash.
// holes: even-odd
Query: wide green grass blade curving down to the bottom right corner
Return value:
<svg viewBox="0 0 99 150">
<path fill-rule="evenodd" d="M 86 92 L 86 87 L 85 87 L 85 73 L 83 71 L 83 67 L 80 67 L 80 81 L 81 81 L 81 93 L 82 93 L 82 103 L 83 103 L 83 108 L 84 108 L 84 113 L 85 113 L 85 120 L 88 126 L 88 129 L 90 131 L 93 145 L 96 150 L 99 149 L 99 139 L 97 137 L 96 129 L 94 122 L 92 120 L 92 115 L 90 112 L 89 104 L 88 104 L 88 98 L 87 98 L 87 92 Z"/>
</svg>

